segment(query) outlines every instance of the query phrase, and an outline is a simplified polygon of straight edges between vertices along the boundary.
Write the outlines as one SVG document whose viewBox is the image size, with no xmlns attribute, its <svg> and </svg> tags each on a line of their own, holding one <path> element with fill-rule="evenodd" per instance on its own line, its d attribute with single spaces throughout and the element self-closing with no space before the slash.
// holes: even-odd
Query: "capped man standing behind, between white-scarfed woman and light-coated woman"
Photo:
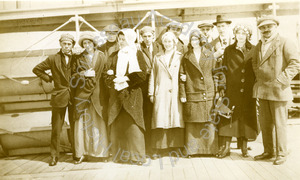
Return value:
<svg viewBox="0 0 300 180">
<path fill-rule="evenodd" d="M 142 85 L 143 91 L 143 111 L 144 111 L 144 120 L 145 120 L 145 144 L 146 144 L 146 153 L 151 155 L 151 119 L 152 119 L 152 110 L 153 104 L 150 102 L 148 97 L 148 85 L 149 77 L 153 66 L 153 59 L 156 53 L 161 50 L 161 46 L 154 42 L 155 40 L 155 30 L 150 26 L 144 26 L 140 30 L 143 41 L 140 44 L 140 49 L 137 52 L 137 57 L 140 63 L 145 64 L 146 68 L 146 80 Z"/>
</svg>

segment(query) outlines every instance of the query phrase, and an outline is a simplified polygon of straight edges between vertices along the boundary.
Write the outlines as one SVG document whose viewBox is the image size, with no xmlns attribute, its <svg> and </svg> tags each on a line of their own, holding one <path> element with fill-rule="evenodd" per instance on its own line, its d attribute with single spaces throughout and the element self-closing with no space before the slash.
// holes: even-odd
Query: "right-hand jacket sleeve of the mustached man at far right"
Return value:
<svg viewBox="0 0 300 180">
<path fill-rule="evenodd" d="M 286 40 L 283 45 L 284 59 L 288 65 L 277 77 L 277 80 L 286 86 L 300 72 L 300 60 L 296 47 L 296 44 L 289 40 Z"/>
</svg>

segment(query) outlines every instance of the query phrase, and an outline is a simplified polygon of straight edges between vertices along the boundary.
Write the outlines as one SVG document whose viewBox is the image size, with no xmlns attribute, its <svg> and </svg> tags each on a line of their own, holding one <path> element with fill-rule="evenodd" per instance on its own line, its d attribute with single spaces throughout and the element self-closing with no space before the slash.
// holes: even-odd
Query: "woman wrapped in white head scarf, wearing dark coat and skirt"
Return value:
<svg viewBox="0 0 300 180">
<path fill-rule="evenodd" d="M 145 162 L 145 123 L 143 94 L 144 66 L 137 60 L 132 29 L 118 33 L 120 50 L 108 59 L 106 84 L 109 87 L 108 125 L 111 127 L 112 155 L 115 162 Z"/>
</svg>

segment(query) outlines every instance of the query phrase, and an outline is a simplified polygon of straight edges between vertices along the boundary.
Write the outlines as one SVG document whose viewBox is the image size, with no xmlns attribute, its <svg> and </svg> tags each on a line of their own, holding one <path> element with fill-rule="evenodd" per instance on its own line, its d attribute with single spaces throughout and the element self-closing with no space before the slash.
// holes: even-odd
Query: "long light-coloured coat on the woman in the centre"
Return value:
<svg viewBox="0 0 300 180">
<path fill-rule="evenodd" d="M 181 57 L 175 51 L 170 66 L 166 65 L 163 52 L 154 57 L 149 80 L 149 95 L 154 97 L 152 129 L 184 127 L 178 88 Z"/>
</svg>

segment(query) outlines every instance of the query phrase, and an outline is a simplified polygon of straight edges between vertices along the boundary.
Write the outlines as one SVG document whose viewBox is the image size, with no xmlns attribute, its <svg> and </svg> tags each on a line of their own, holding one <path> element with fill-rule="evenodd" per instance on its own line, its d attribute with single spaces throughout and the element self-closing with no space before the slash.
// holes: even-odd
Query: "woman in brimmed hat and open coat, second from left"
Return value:
<svg viewBox="0 0 300 180">
<path fill-rule="evenodd" d="M 108 137 L 106 131 L 107 91 L 102 77 L 105 56 L 95 50 L 94 35 L 83 32 L 79 45 L 85 48 L 76 59 L 76 72 L 71 79 L 75 87 L 75 153 L 79 164 L 85 155 L 108 157 L 106 148 Z"/>
</svg>

